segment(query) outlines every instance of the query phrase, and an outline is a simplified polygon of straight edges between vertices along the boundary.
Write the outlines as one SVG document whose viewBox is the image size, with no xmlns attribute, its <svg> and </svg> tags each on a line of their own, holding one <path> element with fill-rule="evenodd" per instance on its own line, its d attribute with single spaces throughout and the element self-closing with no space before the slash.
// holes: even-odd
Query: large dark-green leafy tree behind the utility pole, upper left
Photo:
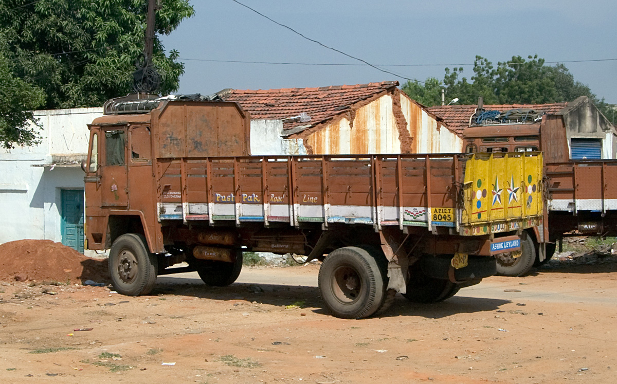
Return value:
<svg viewBox="0 0 617 384">
<path fill-rule="evenodd" d="M 158 34 L 193 15 L 188 0 L 162 0 Z M 44 90 L 48 109 L 101 106 L 132 90 L 144 47 L 147 0 L 0 0 L 0 38 L 15 75 Z M 161 93 L 178 89 L 184 65 L 154 40 Z"/>
</svg>

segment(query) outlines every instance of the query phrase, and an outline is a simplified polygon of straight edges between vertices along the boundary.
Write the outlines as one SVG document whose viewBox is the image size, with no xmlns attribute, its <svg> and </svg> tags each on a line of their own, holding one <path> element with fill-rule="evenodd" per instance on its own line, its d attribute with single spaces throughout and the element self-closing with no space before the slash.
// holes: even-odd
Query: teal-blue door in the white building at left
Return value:
<svg viewBox="0 0 617 384">
<path fill-rule="evenodd" d="M 83 190 L 62 190 L 62 244 L 83 253 Z"/>
</svg>

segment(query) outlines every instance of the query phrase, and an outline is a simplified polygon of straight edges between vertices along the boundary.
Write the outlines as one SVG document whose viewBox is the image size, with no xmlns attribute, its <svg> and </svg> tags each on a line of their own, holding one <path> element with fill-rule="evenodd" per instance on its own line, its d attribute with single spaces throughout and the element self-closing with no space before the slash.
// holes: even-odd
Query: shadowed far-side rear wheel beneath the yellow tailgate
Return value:
<svg viewBox="0 0 617 384">
<path fill-rule="evenodd" d="M 410 268 L 408 273 L 410 275 L 407 282 L 407 292 L 403 296 L 412 303 L 439 303 L 451 298 L 462 288 L 462 284 L 429 277 L 419 267 Z"/>
</svg>

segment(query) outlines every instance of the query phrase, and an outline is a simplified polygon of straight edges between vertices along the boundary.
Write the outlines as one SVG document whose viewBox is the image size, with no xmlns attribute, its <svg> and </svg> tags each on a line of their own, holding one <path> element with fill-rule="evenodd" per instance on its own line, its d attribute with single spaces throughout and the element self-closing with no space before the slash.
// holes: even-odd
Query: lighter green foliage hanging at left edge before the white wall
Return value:
<svg viewBox="0 0 617 384">
<path fill-rule="evenodd" d="M 40 127 L 32 111 L 45 99 L 41 88 L 15 77 L 10 64 L 0 53 L 0 145 L 4 148 L 38 143 L 30 122 Z"/>
</svg>

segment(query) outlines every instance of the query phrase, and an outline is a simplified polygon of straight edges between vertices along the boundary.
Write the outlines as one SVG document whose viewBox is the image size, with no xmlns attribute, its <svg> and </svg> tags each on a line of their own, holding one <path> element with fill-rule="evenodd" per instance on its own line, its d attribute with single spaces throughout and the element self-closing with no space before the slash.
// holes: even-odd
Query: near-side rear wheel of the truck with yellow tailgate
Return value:
<svg viewBox="0 0 617 384">
<path fill-rule="evenodd" d="M 326 256 L 319 270 L 319 289 L 334 316 L 362 319 L 378 311 L 387 287 L 379 264 L 383 263 L 358 247 L 339 248 Z"/>
</svg>

